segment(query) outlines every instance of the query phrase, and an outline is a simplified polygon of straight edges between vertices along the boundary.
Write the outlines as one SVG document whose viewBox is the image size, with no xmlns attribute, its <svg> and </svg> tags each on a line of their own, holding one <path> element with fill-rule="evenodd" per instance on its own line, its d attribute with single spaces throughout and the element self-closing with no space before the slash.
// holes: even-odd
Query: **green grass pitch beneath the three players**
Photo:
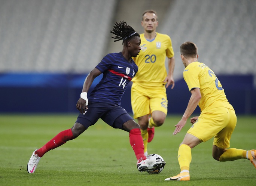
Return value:
<svg viewBox="0 0 256 186">
<path fill-rule="evenodd" d="M 129 134 L 113 129 L 103 121 L 89 127 L 77 139 L 49 151 L 34 174 L 27 173 L 27 162 L 60 131 L 71 128 L 77 115 L 0 115 L 0 185 L 1 186 L 243 186 L 256 185 L 256 169 L 247 159 L 218 162 L 211 156 L 213 139 L 192 149 L 189 182 L 167 182 L 179 173 L 177 151 L 186 131 L 173 136 L 174 125 L 181 115 L 168 115 L 164 125 L 156 128 L 148 152 L 166 161 L 160 174 L 139 172 L 129 144 Z M 238 116 L 231 137 L 231 148 L 255 149 L 256 116 Z"/>
</svg>

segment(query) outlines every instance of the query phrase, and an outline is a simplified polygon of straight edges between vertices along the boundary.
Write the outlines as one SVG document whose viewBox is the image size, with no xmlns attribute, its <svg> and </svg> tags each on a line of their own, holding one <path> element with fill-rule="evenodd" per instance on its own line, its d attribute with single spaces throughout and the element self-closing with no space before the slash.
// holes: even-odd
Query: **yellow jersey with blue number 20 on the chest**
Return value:
<svg viewBox="0 0 256 186">
<path fill-rule="evenodd" d="M 168 35 L 156 32 L 156 37 L 149 41 L 140 34 L 141 50 L 136 58 L 138 72 L 132 82 L 140 83 L 141 86 L 162 86 L 167 77 L 165 59 L 174 56 L 171 38 Z"/>
</svg>

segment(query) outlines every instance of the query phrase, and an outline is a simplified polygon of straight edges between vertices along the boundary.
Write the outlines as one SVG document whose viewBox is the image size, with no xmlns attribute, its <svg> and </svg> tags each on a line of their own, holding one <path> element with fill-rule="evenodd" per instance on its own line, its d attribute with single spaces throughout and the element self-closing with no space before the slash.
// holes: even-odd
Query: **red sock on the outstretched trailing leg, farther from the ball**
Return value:
<svg viewBox="0 0 256 186">
<path fill-rule="evenodd" d="M 74 139 L 73 133 L 71 131 L 71 128 L 68 130 L 64 130 L 60 133 L 58 133 L 54 138 L 52 138 L 49 142 L 47 142 L 42 148 L 38 149 L 35 154 L 37 154 L 39 157 L 42 157 L 46 152 L 55 149 L 64 143 L 66 143 L 68 140 Z"/>
</svg>

